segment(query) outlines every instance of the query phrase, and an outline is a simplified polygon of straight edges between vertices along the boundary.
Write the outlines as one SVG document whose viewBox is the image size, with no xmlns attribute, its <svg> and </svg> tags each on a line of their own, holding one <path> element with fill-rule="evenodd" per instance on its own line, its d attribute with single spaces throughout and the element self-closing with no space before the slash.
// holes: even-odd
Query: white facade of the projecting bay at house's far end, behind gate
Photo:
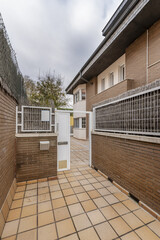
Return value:
<svg viewBox="0 0 160 240">
<path fill-rule="evenodd" d="M 78 85 L 73 91 L 73 98 L 75 98 L 77 93 L 79 94 L 78 101 L 75 102 L 73 99 L 73 111 L 86 111 L 86 98 L 85 100 L 82 99 L 82 90 L 86 93 L 86 84 Z M 73 128 L 73 137 L 86 140 L 86 128 L 82 128 L 82 118 L 86 118 L 86 114 L 74 112 L 73 118 L 74 120 L 78 119 L 77 121 L 79 123 L 78 128 Z"/>
</svg>

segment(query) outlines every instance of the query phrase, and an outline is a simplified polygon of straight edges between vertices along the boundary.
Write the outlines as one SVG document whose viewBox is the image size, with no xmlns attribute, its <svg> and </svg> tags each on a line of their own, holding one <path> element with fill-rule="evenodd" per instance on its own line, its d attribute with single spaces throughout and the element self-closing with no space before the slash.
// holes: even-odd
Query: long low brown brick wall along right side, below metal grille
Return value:
<svg viewBox="0 0 160 240">
<path fill-rule="evenodd" d="M 160 144 L 92 135 L 92 164 L 160 213 Z"/>
</svg>

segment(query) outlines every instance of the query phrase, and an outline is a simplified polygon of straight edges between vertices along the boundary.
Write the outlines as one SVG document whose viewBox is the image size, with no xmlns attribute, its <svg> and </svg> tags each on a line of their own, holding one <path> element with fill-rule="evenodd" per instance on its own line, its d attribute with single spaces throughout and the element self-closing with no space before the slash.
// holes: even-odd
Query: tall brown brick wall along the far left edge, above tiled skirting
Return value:
<svg viewBox="0 0 160 240">
<path fill-rule="evenodd" d="M 16 101 L 0 87 L 0 208 L 15 177 Z"/>
</svg>

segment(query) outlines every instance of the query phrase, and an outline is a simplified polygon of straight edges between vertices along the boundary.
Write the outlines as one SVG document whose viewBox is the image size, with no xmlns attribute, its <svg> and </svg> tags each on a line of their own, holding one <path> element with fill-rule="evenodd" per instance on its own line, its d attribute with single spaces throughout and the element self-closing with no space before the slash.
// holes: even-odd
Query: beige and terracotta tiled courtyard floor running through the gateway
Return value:
<svg viewBox="0 0 160 240">
<path fill-rule="evenodd" d="M 72 139 L 70 171 L 18 186 L 2 239 L 160 239 L 160 223 L 91 169 L 88 153 L 87 142 Z"/>
</svg>

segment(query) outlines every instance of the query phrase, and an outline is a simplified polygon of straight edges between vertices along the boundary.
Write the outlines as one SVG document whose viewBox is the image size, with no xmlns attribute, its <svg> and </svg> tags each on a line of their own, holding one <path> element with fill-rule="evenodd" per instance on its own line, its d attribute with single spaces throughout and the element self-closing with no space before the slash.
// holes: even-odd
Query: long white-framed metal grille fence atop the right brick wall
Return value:
<svg viewBox="0 0 160 240">
<path fill-rule="evenodd" d="M 160 88 L 95 107 L 95 130 L 160 136 Z"/>
</svg>

